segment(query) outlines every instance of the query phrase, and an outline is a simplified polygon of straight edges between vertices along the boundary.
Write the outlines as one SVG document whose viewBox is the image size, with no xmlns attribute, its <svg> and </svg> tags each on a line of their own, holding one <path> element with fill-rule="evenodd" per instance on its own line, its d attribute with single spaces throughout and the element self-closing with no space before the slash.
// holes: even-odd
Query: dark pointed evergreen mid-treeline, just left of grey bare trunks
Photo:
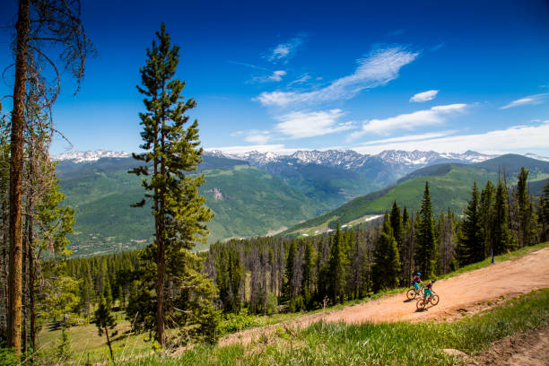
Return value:
<svg viewBox="0 0 549 366">
<path fill-rule="evenodd" d="M 343 303 L 346 256 L 344 253 L 345 243 L 339 227 L 339 222 L 335 228 L 335 234 L 332 237 L 332 240 L 332 247 L 330 248 L 330 256 L 327 264 L 328 294 L 334 303 L 337 303 L 337 301 Z"/>
</svg>

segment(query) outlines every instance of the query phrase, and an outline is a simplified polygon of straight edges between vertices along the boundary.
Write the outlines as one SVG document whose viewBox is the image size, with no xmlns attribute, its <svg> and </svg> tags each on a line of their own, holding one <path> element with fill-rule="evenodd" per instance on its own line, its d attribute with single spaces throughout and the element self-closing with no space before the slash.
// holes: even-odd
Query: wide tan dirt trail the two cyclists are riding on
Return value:
<svg viewBox="0 0 549 366">
<path fill-rule="evenodd" d="M 425 319 L 448 321 L 461 318 L 464 313 L 472 314 L 490 308 L 510 297 L 546 287 L 549 287 L 549 248 L 438 281 L 433 289 L 440 296 L 439 304 L 422 312 L 416 311 L 415 301 L 406 301 L 403 292 L 344 309 L 303 316 L 285 322 L 283 326 L 307 327 L 318 320 L 347 323 Z M 221 340 L 221 344 L 248 343 L 257 335 L 269 333 L 280 326 L 248 329 L 228 335 Z"/>
</svg>

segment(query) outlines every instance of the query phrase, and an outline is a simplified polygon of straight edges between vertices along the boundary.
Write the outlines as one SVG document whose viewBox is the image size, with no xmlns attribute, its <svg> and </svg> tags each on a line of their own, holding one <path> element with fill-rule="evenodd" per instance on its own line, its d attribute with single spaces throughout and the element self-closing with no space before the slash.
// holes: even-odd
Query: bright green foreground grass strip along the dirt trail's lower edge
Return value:
<svg viewBox="0 0 549 366">
<path fill-rule="evenodd" d="M 153 355 L 125 365 L 459 365 L 442 352 L 475 353 L 492 341 L 536 327 L 549 319 L 549 289 L 530 292 L 489 312 L 455 323 L 318 322 L 275 335 L 260 335 L 248 345 L 197 346 L 177 357 Z"/>
</svg>

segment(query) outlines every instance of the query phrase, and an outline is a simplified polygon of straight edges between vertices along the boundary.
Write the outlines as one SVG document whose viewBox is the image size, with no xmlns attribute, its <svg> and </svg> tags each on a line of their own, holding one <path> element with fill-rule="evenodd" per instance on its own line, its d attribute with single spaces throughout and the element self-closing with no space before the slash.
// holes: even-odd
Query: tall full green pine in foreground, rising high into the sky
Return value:
<svg viewBox="0 0 549 366">
<path fill-rule="evenodd" d="M 163 24 L 156 36 L 159 44 L 154 40 L 153 47 L 147 48 L 148 59 L 140 69 L 143 87 L 137 87 L 145 95 L 147 109 L 140 114 L 144 126 L 141 148 L 146 153 L 133 156 L 144 161 L 144 165 L 130 172 L 144 177 L 142 182 L 147 191 L 137 206 L 143 206 L 146 198 L 153 201 L 155 335 L 164 347 L 165 313 L 174 311 L 165 303 L 167 276 L 171 274 L 170 278 L 185 281 L 190 278 L 189 274 L 193 279 L 200 275 L 196 272 L 199 259 L 190 250 L 196 241 L 205 242 L 205 222 L 210 221 L 213 213 L 205 207 L 205 197 L 198 194 L 198 187 L 205 182 L 204 174 L 189 174 L 202 161 L 203 151 L 199 148 L 198 122 L 195 120 L 185 128 L 189 120 L 185 113 L 196 107 L 196 101 L 183 101 L 181 92 L 185 83 L 174 78 L 179 63 L 179 47 L 171 47 L 170 36 Z M 181 285 L 183 283 L 179 283 L 179 287 Z"/>
</svg>

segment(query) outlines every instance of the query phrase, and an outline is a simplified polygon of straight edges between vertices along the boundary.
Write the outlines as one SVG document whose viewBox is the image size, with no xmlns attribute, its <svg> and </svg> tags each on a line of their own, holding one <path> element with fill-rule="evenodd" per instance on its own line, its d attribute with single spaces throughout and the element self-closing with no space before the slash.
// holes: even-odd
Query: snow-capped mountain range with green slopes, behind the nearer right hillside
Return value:
<svg viewBox="0 0 549 366">
<path fill-rule="evenodd" d="M 127 170 L 136 165 L 130 156 L 126 152 L 96 151 L 64 153 L 56 157 L 57 176 L 66 196 L 66 205 L 75 209 L 76 224 L 70 240 L 77 256 L 140 248 L 151 240 L 153 220 L 150 210 L 129 206 L 139 201 L 144 193 L 140 179 L 127 174 Z M 503 160 L 509 161 L 509 158 Z M 440 184 L 449 186 L 461 177 L 463 187 L 457 195 L 457 204 L 452 206 L 459 208 L 465 202 L 464 192 L 470 190 L 472 180 L 469 178 L 478 176 L 476 170 L 483 170 L 476 165 L 490 165 L 490 161 L 494 161 L 494 156 L 475 152 L 386 151 L 365 155 L 350 150 L 327 150 L 279 155 L 207 151 L 198 170 L 205 174 L 206 179 L 200 193 L 215 213 L 208 225 L 211 232 L 208 243 L 278 231 L 283 231 L 283 235 L 311 234 L 315 231 L 303 230 L 311 220 L 316 222 L 314 227 L 320 225 L 326 229 L 333 225 L 332 216 L 318 222 L 324 220 L 319 217 L 326 218 L 327 214 L 334 212 L 332 210 L 355 205 L 364 201 L 364 197 L 379 198 L 388 189 L 409 185 L 407 182 L 414 179 L 419 179 L 418 182 L 422 179 L 423 182 L 424 179 L 430 182 L 431 179 L 440 180 L 450 171 L 453 175 L 449 177 L 454 180 L 441 179 L 440 182 L 445 183 Z M 501 168 L 501 161 L 493 164 L 500 164 Z M 542 170 L 536 170 L 539 179 L 543 178 Z M 441 175 L 440 171 L 444 174 Z M 480 176 L 484 180 L 476 179 L 479 183 L 494 179 L 497 173 L 486 170 Z M 404 200 L 405 204 L 412 203 L 417 198 L 416 188 L 422 184 L 412 186 L 412 190 L 403 186 L 406 188 L 396 190 L 393 196 L 404 195 L 410 198 Z M 421 197 L 423 191 L 419 189 L 419 192 Z M 366 201 L 369 202 L 370 198 Z M 362 216 L 364 220 L 370 220 L 388 208 L 385 201 L 387 197 L 379 204 L 369 204 L 370 208 L 363 214 L 359 214 L 360 210 L 353 210 L 349 216 L 353 219 L 348 222 L 362 220 Z M 197 248 L 206 247 L 199 245 Z"/>
</svg>

